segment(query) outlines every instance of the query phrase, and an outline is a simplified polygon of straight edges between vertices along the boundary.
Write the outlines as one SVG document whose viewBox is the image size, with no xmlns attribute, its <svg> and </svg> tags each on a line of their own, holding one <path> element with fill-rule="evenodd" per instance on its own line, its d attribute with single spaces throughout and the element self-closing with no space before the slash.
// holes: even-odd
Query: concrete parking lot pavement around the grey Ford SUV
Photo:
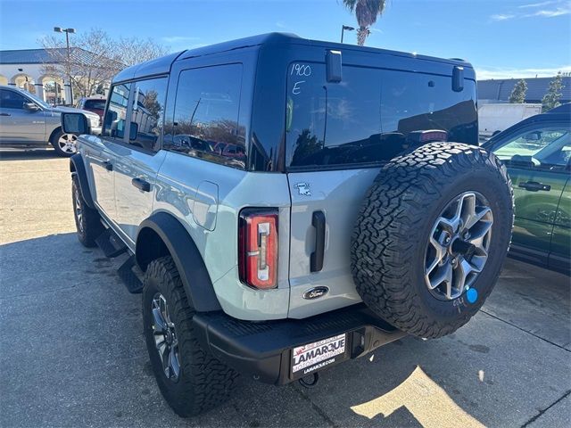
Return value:
<svg viewBox="0 0 571 428">
<path fill-rule="evenodd" d="M 509 259 L 457 333 L 412 337 L 323 372 L 318 386 L 244 379 L 178 418 L 161 398 L 140 295 L 74 235 L 68 161 L 0 152 L 0 425 L 571 426 L 570 283 Z"/>
</svg>

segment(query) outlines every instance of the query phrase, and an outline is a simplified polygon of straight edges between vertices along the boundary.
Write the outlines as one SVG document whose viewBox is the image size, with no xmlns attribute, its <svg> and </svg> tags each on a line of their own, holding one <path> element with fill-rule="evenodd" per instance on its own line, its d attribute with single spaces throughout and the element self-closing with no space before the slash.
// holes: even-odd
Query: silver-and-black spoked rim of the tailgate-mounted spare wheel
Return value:
<svg viewBox="0 0 571 428">
<path fill-rule="evenodd" d="M 446 205 L 426 245 L 425 282 L 436 299 L 457 299 L 476 282 L 488 259 L 492 224 L 481 193 L 461 193 Z"/>
</svg>

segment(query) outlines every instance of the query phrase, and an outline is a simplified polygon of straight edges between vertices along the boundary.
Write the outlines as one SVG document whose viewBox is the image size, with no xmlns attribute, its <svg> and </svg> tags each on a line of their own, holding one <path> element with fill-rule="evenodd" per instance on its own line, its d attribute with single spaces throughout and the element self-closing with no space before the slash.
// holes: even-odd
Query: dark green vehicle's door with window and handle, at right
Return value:
<svg viewBox="0 0 571 428">
<path fill-rule="evenodd" d="M 569 124 L 531 122 L 490 148 L 503 161 L 514 188 L 514 251 L 548 263 L 559 200 L 568 178 Z"/>
</svg>

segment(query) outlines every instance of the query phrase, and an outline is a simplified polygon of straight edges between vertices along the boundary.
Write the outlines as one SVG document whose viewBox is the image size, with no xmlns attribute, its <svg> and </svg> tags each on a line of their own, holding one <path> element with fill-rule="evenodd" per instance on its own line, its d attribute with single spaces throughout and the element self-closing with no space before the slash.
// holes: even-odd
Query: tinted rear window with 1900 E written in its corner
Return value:
<svg viewBox="0 0 571 428">
<path fill-rule="evenodd" d="M 291 168 L 362 166 L 410 147 L 412 131 L 442 129 L 449 141 L 477 143 L 476 85 L 453 92 L 451 77 L 343 67 L 327 82 L 324 64 L 288 70 L 286 161 Z"/>
</svg>

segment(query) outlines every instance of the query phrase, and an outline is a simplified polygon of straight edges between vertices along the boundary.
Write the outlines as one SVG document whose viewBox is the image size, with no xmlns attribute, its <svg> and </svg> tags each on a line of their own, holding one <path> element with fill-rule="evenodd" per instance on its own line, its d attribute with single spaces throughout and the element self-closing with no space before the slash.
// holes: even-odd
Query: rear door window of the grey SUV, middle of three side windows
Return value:
<svg viewBox="0 0 571 428">
<path fill-rule="evenodd" d="M 153 78 L 133 83 L 135 97 L 131 113 L 129 144 L 157 152 L 167 95 L 167 78 Z"/>
</svg>

